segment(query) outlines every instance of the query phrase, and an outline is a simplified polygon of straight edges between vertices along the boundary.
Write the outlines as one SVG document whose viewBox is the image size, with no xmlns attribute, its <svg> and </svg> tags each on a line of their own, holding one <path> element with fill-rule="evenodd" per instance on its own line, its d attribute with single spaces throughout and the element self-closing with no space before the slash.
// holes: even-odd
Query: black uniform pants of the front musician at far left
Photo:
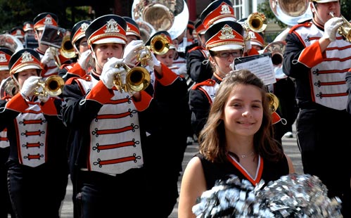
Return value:
<svg viewBox="0 0 351 218">
<path fill-rule="evenodd" d="M 10 163 L 8 191 L 17 218 L 58 218 L 68 184 L 68 167 Z"/>
</svg>

